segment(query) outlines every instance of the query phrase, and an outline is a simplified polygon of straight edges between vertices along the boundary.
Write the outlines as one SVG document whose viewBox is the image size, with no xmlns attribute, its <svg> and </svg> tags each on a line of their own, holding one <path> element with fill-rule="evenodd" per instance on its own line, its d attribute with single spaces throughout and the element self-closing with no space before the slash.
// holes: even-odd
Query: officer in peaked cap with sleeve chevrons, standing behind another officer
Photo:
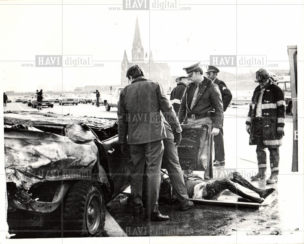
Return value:
<svg viewBox="0 0 304 244">
<path fill-rule="evenodd" d="M 219 69 L 209 65 L 208 70 L 206 72 L 207 77 L 212 80 L 214 84 L 219 86 L 219 90 L 221 91 L 222 101 L 223 101 L 223 109 L 224 112 L 229 106 L 229 103 L 232 99 L 232 94 L 230 90 L 227 88 L 224 81 L 221 81 L 217 78 L 217 73 L 219 73 Z M 222 125 L 223 126 L 223 125 Z M 224 150 L 224 139 L 223 139 L 223 128 L 219 130 L 219 134 L 213 137 L 214 141 L 214 160 L 213 166 L 223 166 L 225 165 L 225 150 Z"/>
</svg>

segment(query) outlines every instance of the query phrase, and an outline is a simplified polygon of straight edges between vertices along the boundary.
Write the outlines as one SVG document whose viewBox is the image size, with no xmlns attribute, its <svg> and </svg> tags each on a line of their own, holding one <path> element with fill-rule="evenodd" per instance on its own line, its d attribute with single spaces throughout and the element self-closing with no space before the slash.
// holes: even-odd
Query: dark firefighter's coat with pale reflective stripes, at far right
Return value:
<svg viewBox="0 0 304 244">
<path fill-rule="evenodd" d="M 256 106 L 261 92 L 261 86 L 258 85 L 253 93 L 251 103 L 249 105 L 249 113 L 246 120 L 247 125 L 252 125 L 252 119 L 256 115 Z M 269 148 L 276 148 L 282 145 L 282 137 L 277 134 L 277 127 L 285 125 L 285 97 L 284 93 L 277 85 L 270 83 L 264 90 L 262 96 L 262 130 L 263 143 Z M 250 130 L 250 145 L 257 145 L 253 137 L 253 130 Z"/>
</svg>

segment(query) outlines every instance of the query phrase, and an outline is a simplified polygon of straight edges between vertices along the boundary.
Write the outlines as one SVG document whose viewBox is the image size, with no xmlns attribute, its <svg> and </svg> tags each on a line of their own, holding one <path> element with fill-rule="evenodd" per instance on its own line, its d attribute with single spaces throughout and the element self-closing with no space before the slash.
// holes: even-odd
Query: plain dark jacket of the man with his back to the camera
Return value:
<svg viewBox="0 0 304 244">
<path fill-rule="evenodd" d="M 161 85 L 143 77 L 134 79 L 119 96 L 119 143 L 143 144 L 165 139 L 166 131 L 160 111 L 172 131 L 181 132 L 173 106 Z"/>
</svg>

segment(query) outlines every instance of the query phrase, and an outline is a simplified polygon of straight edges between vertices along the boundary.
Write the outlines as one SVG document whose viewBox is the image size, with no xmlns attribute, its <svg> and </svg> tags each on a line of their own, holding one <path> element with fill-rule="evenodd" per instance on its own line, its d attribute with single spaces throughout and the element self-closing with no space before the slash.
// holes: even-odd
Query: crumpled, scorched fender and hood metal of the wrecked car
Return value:
<svg viewBox="0 0 304 244">
<path fill-rule="evenodd" d="M 87 125 L 102 128 L 114 123 L 109 119 L 63 118 L 55 114 L 46 117 L 37 112 L 15 111 L 4 115 L 8 127 L 4 129 L 6 179 L 27 190 L 40 181 L 92 177 L 99 158 L 96 136 Z M 14 126 L 10 128 L 8 125 L 12 123 Z M 62 126 L 65 136 L 44 132 L 35 125 Z M 102 173 L 105 175 L 104 170 Z"/>
</svg>

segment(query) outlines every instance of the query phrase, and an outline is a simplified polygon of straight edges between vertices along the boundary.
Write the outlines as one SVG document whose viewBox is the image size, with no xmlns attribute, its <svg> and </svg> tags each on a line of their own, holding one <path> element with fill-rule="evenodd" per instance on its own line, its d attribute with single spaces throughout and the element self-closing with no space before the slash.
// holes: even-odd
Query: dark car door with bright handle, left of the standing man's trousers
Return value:
<svg viewBox="0 0 304 244">
<path fill-rule="evenodd" d="M 108 162 L 110 182 L 114 185 L 112 196 L 121 193 L 130 183 L 131 156 L 124 156 L 118 143 L 118 135 L 101 142 L 102 157 Z M 106 167 L 106 166 L 104 166 Z M 107 170 L 106 170 L 107 171 Z"/>
</svg>

